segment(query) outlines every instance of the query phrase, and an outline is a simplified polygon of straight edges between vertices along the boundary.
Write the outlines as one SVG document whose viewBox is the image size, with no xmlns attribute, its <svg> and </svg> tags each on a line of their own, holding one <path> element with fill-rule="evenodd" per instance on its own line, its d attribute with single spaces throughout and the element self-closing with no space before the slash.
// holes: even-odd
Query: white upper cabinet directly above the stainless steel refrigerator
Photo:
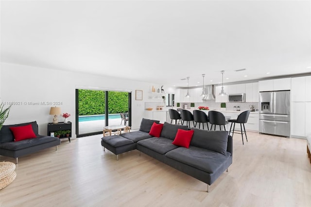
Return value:
<svg viewBox="0 0 311 207">
<path fill-rule="evenodd" d="M 290 90 L 291 78 L 259 81 L 259 91 Z"/>
</svg>

